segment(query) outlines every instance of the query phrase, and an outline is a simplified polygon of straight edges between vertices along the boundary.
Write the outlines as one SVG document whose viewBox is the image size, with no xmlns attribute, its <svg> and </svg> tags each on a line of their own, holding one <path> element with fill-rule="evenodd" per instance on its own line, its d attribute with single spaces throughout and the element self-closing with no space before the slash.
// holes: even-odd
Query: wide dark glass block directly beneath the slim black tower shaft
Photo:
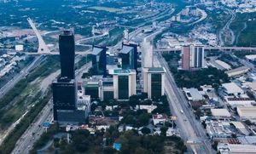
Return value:
<svg viewBox="0 0 256 154">
<path fill-rule="evenodd" d="M 58 120 L 57 110 L 76 109 L 76 85 L 73 81 L 57 81 L 52 83 L 54 119 Z"/>
</svg>

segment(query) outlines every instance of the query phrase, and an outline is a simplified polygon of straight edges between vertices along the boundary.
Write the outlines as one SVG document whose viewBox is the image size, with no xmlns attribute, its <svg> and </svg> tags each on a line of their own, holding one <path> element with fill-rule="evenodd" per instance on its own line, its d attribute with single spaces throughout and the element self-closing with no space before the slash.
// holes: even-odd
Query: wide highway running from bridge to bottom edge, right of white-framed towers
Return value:
<svg viewBox="0 0 256 154">
<path fill-rule="evenodd" d="M 182 90 L 177 88 L 166 60 L 160 54 L 156 58 L 160 61 L 161 66 L 166 68 L 166 95 L 172 114 L 177 116 L 177 127 L 181 129 L 183 140 L 189 141 L 188 145 L 195 153 L 213 153 L 205 129 L 201 127 L 201 123 L 195 120 L 195 115 L 188 106 L 188 100 L 184 97 Z"/>
</svg>

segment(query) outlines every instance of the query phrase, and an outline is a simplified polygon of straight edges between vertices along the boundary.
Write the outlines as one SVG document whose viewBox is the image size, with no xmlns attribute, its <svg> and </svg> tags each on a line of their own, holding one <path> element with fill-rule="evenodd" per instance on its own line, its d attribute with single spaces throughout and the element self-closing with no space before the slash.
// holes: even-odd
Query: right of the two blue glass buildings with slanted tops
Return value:
<svg viewBox="0 0 256 154">
<path fill-rule="evenodd" d="M 122 69 L 137 71 L 137 44 L 125 44 L 121 49 Z"/>
</svg>

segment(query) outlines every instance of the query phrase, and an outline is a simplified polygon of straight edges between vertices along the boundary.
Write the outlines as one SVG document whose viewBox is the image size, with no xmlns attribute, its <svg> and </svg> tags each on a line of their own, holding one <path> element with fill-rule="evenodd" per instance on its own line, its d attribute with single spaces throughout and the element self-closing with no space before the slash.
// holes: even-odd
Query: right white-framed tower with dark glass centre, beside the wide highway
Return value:
<svg viewBox="0 0 256 154">
<path fill-rule="evenodd" d="M 163 67 L 143 68 L 143 92 L 148 99 L 160 98 L 165 94 L 166 70 Z"/>
</svg>

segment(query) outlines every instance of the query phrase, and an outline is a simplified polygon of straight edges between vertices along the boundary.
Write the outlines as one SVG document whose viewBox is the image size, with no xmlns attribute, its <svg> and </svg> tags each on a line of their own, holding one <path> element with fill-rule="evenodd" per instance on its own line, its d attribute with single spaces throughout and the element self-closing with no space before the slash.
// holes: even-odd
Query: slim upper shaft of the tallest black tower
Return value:
<svg viewBox="0 0 256 154">
<path fill-rule="evenodd" d="M 61 77 L 74 79 L 75 43 L 72 31 L 62 31 L 59 36 Z"/>
</svg>

